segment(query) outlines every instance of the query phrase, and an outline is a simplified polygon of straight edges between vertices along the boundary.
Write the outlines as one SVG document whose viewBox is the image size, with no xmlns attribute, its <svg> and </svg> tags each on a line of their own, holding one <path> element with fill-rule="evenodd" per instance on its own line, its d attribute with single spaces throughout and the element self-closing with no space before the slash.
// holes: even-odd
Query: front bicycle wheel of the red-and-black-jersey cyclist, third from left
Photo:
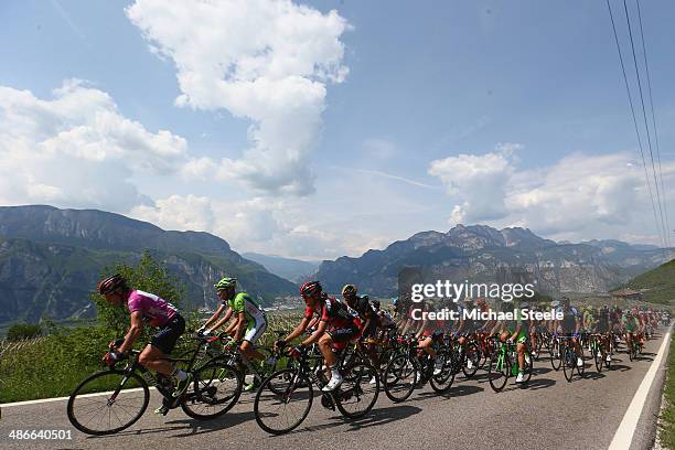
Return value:
<svg viewBox="0 0 675 450">
<path fill-rule="evenodd" d="M 278 371 L 265 378 L 256 394 L 256 422 L 272 435 L 289 432 L 307 418 L 313 398 L 312 383 L 307 376 L 296 368 Z"/>
</svg>

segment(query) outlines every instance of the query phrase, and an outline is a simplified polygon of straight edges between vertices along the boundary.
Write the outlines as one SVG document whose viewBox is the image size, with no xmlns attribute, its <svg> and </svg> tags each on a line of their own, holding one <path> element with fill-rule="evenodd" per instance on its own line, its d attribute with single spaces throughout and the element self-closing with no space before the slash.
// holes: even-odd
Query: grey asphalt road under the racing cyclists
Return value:
<svg viewBox="0 0 675 450">
<path fill-rule="evenodd" d="M 535 363 L 526 388 L 511 383 L 495 394 L 484 372 L 479 371 L 475 379 L 458 376 L 443 396 L 427 387 L 396 405 L 381 393 L 373 411 L 357 421 L 345 421 L 314 401 L 308 419 L 293 432 L 279 437 L 258 428 L 253 394 L 244 394 L 232 411 L 212 421 L 191 419 L 180 408 L 167 417 L 156 417 L 151 409 L 159 405 L 159 398 L 153 394 L 149 410 L 135 426 L 108 437 L 89 437 L 73 428 L 66 418 L 65 400 L 3 406 L 0 448 L 607 449 L 664 334 L 661 330 L 632 363 L 625 353 L 614 355 L 610 372 L 598 374 L 592 361 L 587 361 L 586 378 L 576 376 L 571 383 L 561 371 L 553 371 L 545 358 Z M 660 364 L 631 449 L 647 449 L 653 443 L 665 361 Z M 11 440 L 9 435 L 14 429 L 72 430 L 72 439 Z"/>
</svg>

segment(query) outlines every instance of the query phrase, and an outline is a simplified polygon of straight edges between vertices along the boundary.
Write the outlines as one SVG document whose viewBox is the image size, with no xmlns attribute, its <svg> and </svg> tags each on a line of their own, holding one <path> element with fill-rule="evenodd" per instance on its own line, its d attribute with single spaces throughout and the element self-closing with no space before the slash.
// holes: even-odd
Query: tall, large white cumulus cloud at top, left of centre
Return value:
<svg viewBox="0 0 675 450">
<path fill-rule="evenodd" d="M 176 105 L 251 121 L 251 146 L 217 162 L 221 179 L 264 194 L 313 192 L 310 153 L 326 84 L 347 74 L 346 20 L 290 0 L 137 0 L 126 12 L 151 49 L 174 62 Z"/>
</svg>

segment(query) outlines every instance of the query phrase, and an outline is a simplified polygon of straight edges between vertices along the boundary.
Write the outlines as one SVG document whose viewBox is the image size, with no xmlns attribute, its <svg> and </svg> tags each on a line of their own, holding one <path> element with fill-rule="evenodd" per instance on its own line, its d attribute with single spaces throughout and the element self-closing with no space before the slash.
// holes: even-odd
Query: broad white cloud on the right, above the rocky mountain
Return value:
<svg viewBox="0 0 675 450">
<path fill-rule="evenodd" d="M 451 224 L 523 226 L 574 242 L 638 233 L 640 242 L 658 244 L 644 170 L 630 153 L 570 153 L 547 167 L 519 169 L 522 148 L 501 144 L 491 153 L 431 162 L 429 174 L 452 201 Z M 663 175 L 672 180 L 675 164 L 664 163 Z"/>
</svg>

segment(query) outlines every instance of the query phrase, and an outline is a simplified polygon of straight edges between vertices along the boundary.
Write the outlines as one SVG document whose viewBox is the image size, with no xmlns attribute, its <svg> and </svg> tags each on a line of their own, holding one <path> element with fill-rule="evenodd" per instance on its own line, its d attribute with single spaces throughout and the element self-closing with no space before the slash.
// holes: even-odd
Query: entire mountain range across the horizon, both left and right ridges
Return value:
<svg viewBox="0 0 675 450">
<path fill-rule="evenodd" d="M 213 283 L 237 277 L 239 288 L 266 306 L 297 297 L 301 282 L 319 279 L 330 292 L 346 282 L 360 291 L 397 293 L 398 276 L 456 282 L 536 282 L 544 293 L 607 292 L 669 259 L 669 251 L 620 240 L 556 243 L 526 228 L 458 225 L 422 232 L 383 250 L 334 261 L 301 261 L 234 251 L 203 232 L 172 232 L 96 210 L 0 207 L 0 323 L 42 317 L 93 317 L 89 296 L 104 269 L 135 264 L 143 250 L 184 285 L 186 303 L 214 308 Z"/>
</svg>

